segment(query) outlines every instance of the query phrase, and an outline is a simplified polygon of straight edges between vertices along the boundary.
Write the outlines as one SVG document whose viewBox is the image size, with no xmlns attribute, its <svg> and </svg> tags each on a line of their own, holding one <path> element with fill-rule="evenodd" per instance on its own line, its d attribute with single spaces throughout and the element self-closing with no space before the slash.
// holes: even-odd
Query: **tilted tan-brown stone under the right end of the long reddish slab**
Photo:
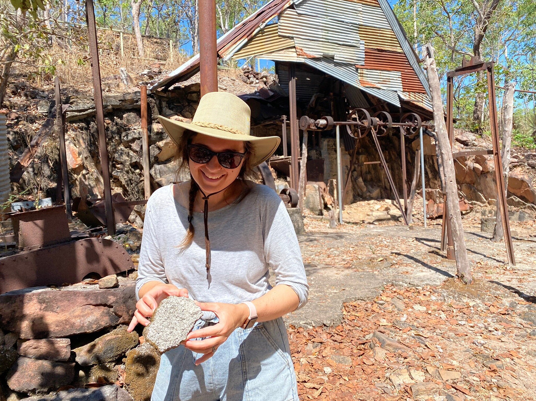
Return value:
<svg viewBox="0 0 536 401">
<path fill-rule="evenodd" d="M 76 353 L 76 362 L 80 366 L 91 366 L 113 362 L 138 344 L 138 333 L 129 333 L 126 326 L 121 326 L 89 344 L 75 348 L 73 352 Z"/>
</svg>

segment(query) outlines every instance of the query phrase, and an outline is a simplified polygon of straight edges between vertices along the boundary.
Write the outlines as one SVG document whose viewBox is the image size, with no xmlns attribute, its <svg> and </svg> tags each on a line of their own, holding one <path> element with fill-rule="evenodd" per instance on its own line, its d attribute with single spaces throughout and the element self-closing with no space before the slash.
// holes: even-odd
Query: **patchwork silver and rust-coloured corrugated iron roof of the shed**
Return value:
<svg viewBox="0 0 536 401">
<path fill-rule="evenodd" d="M 418 58 L 386 0 L 272 0 L 222 36 L 218 54 L 303 62 L 396 107 L 400 99 L 424 109 L 431 104 Z M 150 90 L 187 79 L 198 68 L 195 56 Z M 285 87 L 286 68 L 276 69 Z M 300 98 L 314 94 L 315 88 L 300 89 L 303 84 L 312 83 L 297 83 Z"/>
</svg>

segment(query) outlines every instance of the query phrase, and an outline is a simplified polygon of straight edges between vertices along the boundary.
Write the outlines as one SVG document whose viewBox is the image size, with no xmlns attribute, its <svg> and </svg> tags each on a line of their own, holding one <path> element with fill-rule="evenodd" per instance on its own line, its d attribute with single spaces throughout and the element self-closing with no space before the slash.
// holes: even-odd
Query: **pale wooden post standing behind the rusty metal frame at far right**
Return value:
<svg viewBox="0 0 536 401">
<path fill-rule="evenodd" d="M 515 82 L 509 82 L 504 85 L 503 106 L 501 109 L 501 138 L 502 138 L 502 169 L 504 176 L 504 190 L 508 192 L 508 173 L 510 171 L 510 145 L 512 143 L 512 125 L 513 125 L 513 95 L 515 93 Z M 497 194 L 498 197 L 501 194 Z M 497 201 L 498 204 L 498 201 Z M 508 206 L 507 206 L 508 207 Z M 495 211 L 495 228 L 493 230 L 492 241 L 501 241 L 504 237 L 504 229 L 502 225 L 502 214 L 500 207 Z"/>
</svg>

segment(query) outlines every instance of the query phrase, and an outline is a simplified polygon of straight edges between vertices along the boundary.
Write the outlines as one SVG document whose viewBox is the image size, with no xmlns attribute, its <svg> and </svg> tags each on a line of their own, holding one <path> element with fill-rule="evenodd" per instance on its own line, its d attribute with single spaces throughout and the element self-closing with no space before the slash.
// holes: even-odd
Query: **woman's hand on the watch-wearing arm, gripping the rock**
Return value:
<svg viewBox="0 0 536 401">
<path fill-rule="evenodd" d="M 220 302 L 197 302 L 197 305 L 201 310 L 214 312 L 219 318 L 218 323 L 189 333 L 183 343 L 189 350 L 204 354 L 196 361 L 196 365 L 199 365 L 199 363 L 211 358 L 231 333 L 245 322 L 249 316 L 249 308 L 244 303 L 235 305 Z M 194 340 L 195 338 L 205 339 Z"/>
</svg>

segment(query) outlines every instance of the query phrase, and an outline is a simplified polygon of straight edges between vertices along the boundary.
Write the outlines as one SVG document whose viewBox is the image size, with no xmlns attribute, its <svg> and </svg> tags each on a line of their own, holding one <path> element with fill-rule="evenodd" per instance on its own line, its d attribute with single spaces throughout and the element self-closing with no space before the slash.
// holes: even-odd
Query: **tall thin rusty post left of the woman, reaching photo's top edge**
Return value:
<svg viewBox="0 0 536 401">
<path fill-rule="evenodd" d="M 105 213 L 108 235 L 115 235 L 114 211 L 111 200 L 110 170 L 108 165 L 108 150 L 106 148 L 106 131 L 104 111 L 102 109 L 102 87 L 100 80 L 99 48 L 95 28 L 95 9 L 93 0 L 86 0 L 87 36 L 90 43 L 91 71 L 95 98 L 95 115 L 99 132 L 99 154 L 101 158 L 102 180 L 104 181 Z"/>
</svg>

